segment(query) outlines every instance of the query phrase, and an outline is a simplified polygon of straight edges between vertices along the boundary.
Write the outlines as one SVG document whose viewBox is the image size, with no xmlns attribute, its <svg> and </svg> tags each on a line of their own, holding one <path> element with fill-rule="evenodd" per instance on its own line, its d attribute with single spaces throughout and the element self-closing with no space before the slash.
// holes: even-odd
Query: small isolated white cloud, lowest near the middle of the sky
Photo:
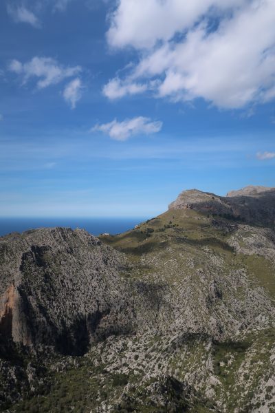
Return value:
<svg viewBox="0 0 275 413">
<path fill-rule="evenodd" d="M 136 118 L 126 119 L 123 122 L 118 122 L 115 119 L 110 123 L 96 125 L 91 131 L 101 131 L 115 140 L 127 140 L 130 136 L 137 134 L 156 134 L 161 129 L 162 122 L 152 122 L 150 118 L 138 116 Z"/>
</svg>

